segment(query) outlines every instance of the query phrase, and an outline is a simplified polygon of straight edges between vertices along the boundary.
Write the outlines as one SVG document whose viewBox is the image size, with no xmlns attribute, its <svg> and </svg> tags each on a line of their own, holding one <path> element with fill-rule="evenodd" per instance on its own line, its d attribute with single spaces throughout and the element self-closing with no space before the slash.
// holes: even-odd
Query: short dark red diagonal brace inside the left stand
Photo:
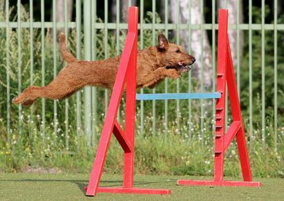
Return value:
<svg viewBox="0 0 284 201">
<path fill-rule="evenodd" d="M 113 134 L 115 135 L 115 138 L 120 143 L 120 146 L 122 146 L 122 149 L 124 152 L 131 152 L 133 150 L 133 147 L 131 143 L 129 142 L 129 139 L 126 138 L 122 127 L 120 127 L 120 123 L 115 120 L 115 125 L 113 127 Z"/>
</svg>

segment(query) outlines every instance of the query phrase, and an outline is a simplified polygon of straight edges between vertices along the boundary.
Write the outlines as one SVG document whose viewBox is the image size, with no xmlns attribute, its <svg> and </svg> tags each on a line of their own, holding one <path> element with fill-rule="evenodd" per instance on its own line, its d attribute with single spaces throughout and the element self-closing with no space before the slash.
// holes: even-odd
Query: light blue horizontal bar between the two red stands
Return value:
<svg viewBox="0 0 284 201">
<path fill-rule="evenodd" d="M 136 100 L 169 100 L 169 99 L 205 99 L 220 98 L 221 94 L 214 93 L 180 93 L 180 94 L 136 94 Z"/>
</svg>

